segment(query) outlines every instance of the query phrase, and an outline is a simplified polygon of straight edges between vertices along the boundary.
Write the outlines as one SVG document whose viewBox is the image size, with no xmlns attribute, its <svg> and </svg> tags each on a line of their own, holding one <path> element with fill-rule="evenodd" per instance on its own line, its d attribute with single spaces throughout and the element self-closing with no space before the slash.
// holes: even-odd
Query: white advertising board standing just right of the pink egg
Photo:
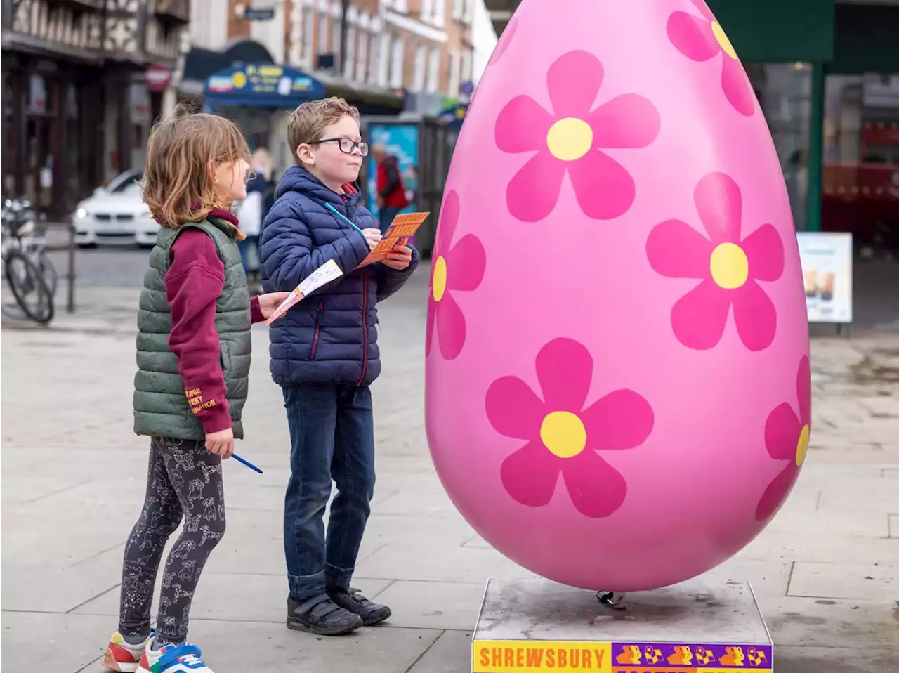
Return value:
<svg viewBox="0 0 899 673">
<path fill-rule="evenodd" d="M 797 232 L 809 322 L 852 322 L 852 235 Z"/>
</svg>

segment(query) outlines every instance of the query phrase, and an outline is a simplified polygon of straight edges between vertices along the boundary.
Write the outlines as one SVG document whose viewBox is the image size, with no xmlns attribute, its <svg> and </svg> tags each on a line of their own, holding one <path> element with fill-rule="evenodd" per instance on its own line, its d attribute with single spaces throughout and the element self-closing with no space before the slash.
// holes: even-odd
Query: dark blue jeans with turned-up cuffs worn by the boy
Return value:
<svg viewBox="0 0 899 673">
<path fill-rule="evenodd" d="M 284 498 L 284 553 L 298 601 L 350 588 L 375 487 L 375 433 L 368 386 L 285 388 L 290 479 Z M 325 537 L 325 507 L 331 497 Z"/>
</svg>

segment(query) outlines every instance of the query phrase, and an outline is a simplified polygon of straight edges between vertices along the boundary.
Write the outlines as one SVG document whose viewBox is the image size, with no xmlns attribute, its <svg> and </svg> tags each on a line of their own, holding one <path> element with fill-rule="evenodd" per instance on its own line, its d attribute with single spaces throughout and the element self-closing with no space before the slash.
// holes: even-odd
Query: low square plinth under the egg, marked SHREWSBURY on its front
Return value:
<svg viewBox="0 0 899 673">
<path fill-rule="evenodd" d="M 547 579 L 487 581 L 473 673 L 770 673 L 749 584 L 701 579 L 628 594 L 624 609 Z"/>
</svg>

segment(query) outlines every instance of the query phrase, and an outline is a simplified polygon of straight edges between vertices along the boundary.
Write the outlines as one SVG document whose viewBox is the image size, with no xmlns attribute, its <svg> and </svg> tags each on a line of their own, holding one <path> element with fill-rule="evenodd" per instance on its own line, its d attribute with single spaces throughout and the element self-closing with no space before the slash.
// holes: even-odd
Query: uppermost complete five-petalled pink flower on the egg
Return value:
<svg viewBox="0 0 899 673">
<path fill-rule="evenodd" d="M 547 72 L 553 113 L 519 95 L 506 103 L 495 127 L 503 152 L 536 152 L 506 189 L 509 212 L 518 220 L 543 220 L 556 207 L 565 173 L 581 210 L 593 220 L 613 220 L 634 202 L 634 178 L 601 148 L 645 148 L 658 136 L 661 119 L 653 103 L 624 94 L 592 109 L 604 70 L 586 51 L 570 51 Z"/>
</svg>

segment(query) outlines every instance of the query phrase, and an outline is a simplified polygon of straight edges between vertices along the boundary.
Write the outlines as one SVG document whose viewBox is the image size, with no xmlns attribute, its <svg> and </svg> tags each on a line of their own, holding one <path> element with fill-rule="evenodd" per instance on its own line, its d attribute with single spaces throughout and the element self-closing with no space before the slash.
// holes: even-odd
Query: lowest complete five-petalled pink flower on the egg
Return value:
<svg viewBox="0 0 899 673">
<path fill-rule="evenodd" d="M 561 473 L 583 516 L 610 516 L 624 503 L 628 484 L 596 452 L 643 444 L 653 430 L 653 409 L 632 390 L 615 390 L 584 408 L 593 360 L 572 339 L 544 345 L 536 367 L 543 399 L 517 376 L 497 379 L 487 390 L 486 413 L 494 430 L 527 442 L 503 461 L 503 487 L 522 505 L 543 507 Z"/>
</svg>

